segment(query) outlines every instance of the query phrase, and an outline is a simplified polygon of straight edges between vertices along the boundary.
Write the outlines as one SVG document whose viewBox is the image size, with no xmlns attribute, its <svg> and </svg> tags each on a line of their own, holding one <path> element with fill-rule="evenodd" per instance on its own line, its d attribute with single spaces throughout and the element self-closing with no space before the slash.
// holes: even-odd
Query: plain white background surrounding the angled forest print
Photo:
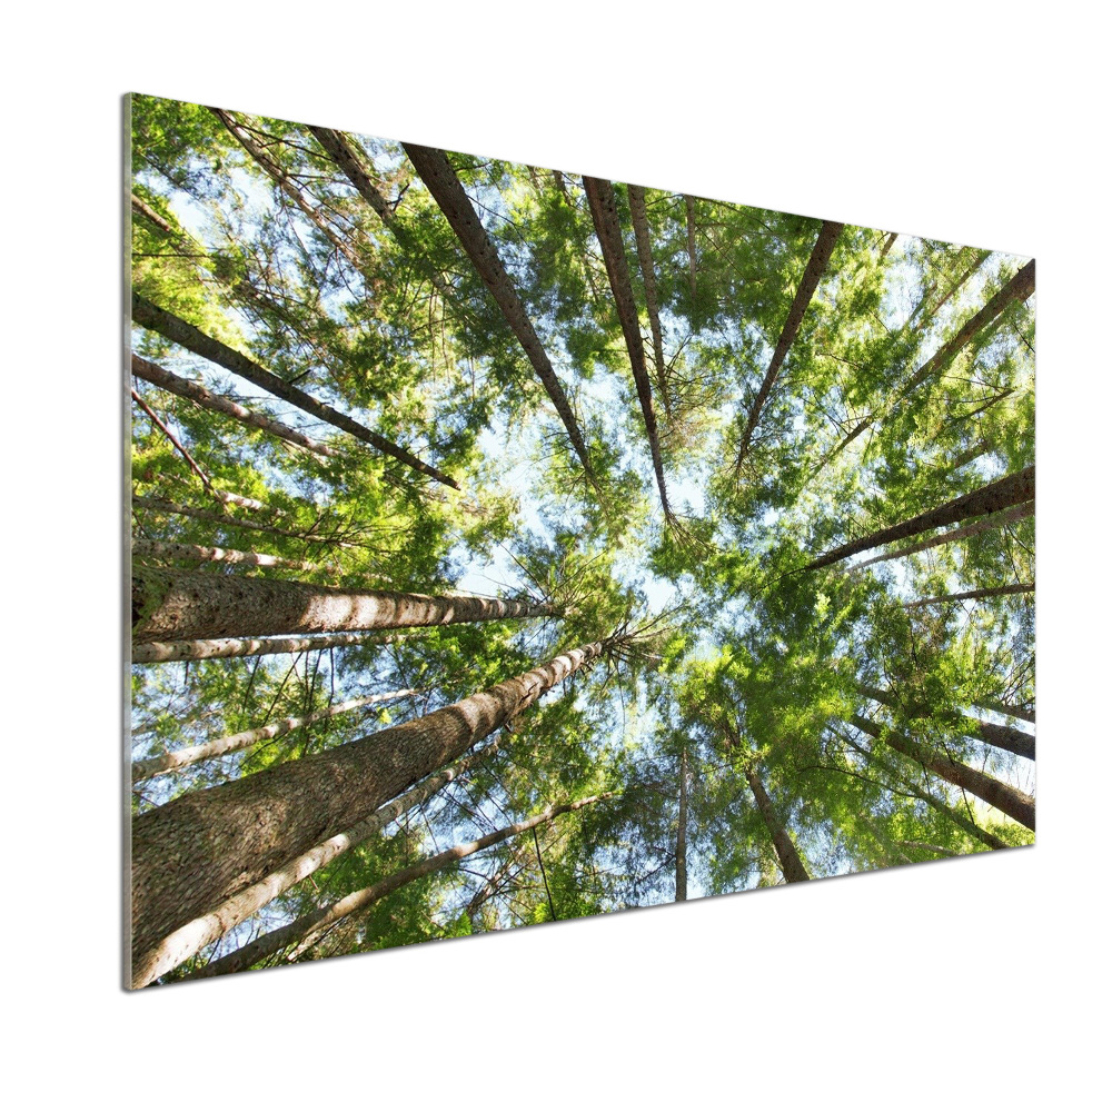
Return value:
<svg viewBox="0 0 1112 1112">
<path fill-rule="evenodd" d="M 193 2 L 8 17 L 13 1106 L 1098 1102 L 1108 38 L 1081 4 L 835 7 L 271 3 L 247 16 Z M 1037 848 L 123 993 L 129 89 L 1036 256 Z"/>
</svg>

